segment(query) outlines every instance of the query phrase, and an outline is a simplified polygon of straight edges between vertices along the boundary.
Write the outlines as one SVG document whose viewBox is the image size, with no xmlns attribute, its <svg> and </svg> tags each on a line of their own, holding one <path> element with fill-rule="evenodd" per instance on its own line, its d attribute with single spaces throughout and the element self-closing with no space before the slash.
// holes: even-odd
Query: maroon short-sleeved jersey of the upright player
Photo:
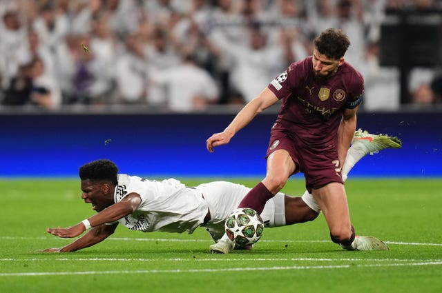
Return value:
<svg viewBox="0 0 442 293">
<path fill-rule="evenodd" d="M 269 84 L 282 99 L 273 128 L 288 131 L 313 150 L 336 148 L 344 110 L 356 108 L 363 99 L 363 77 L 345 62 L 332 77 L 320 79 L 311 59 L 292 63 Z"/>
</svg>

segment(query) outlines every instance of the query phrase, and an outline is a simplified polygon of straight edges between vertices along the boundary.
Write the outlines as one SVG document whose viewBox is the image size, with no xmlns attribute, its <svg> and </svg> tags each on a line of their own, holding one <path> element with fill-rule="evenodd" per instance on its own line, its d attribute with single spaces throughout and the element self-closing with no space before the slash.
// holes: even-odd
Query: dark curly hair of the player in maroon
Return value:
<svg viewBox="0 0 442 293">
<path fill-rule="evenodd" d="M 350 41 L 343 30 L 327 28 L 327 30 L 321 32 L 314 39 L 314 45 L 320 54 L 324 54 L 330 59 L 338 60 L 344 57 L 345 52 L 347 52 L 350 46 Z"/>
</svg>

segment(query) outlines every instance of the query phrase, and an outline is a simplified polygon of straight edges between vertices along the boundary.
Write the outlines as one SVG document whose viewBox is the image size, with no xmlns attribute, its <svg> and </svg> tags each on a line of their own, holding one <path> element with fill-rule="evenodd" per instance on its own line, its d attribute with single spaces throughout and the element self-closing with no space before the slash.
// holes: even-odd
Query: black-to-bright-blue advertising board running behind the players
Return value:
<svg viewBox="0 0 442 293">
<path fill-rule="evenodd" d="M 107 158 L 142 176 L 264 176 L 276 112 L 261 114 L 229 145 L 205 141 L 231 121 L 224 114 L 1 114 L 0 176 L 77 176 L 79 165 Z M 400 150 L 363 159 L 352 176 L 442 176 L 441 112 L 361 112 L 358 127 L 403 141 Z M 302 175 L 296 175 L 302 176 Z"/>
</svg>

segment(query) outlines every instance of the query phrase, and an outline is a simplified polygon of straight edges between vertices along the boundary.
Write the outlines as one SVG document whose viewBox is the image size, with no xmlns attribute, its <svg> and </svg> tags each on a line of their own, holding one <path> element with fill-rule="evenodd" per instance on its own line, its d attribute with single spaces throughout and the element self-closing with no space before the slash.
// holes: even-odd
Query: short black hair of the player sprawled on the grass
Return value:
<svg viewBox="0 0 442 293">
<path fill-rule="evenodd" d="M 89 179 L 90 181 L 109 181 L 117 185 L 117 174 L 117 165 L 108 159 L 92 161 L 82 165 L 79 168 L 79 176 L 81 180 Z"/>
</svg>

